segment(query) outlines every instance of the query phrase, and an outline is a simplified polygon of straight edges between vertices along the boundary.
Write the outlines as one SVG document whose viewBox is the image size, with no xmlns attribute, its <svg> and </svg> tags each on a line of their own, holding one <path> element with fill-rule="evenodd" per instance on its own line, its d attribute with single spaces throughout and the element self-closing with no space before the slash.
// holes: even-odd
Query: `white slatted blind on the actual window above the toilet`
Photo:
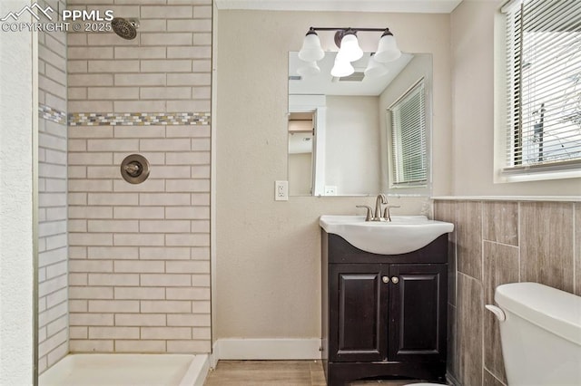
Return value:
<svg viewBox="0 0 581 386">
<path fill-rule="evenodd" d="M 581 3 L 520 0 L 507 14 L 505 173 L 581 168 Z"/>
</svg>

